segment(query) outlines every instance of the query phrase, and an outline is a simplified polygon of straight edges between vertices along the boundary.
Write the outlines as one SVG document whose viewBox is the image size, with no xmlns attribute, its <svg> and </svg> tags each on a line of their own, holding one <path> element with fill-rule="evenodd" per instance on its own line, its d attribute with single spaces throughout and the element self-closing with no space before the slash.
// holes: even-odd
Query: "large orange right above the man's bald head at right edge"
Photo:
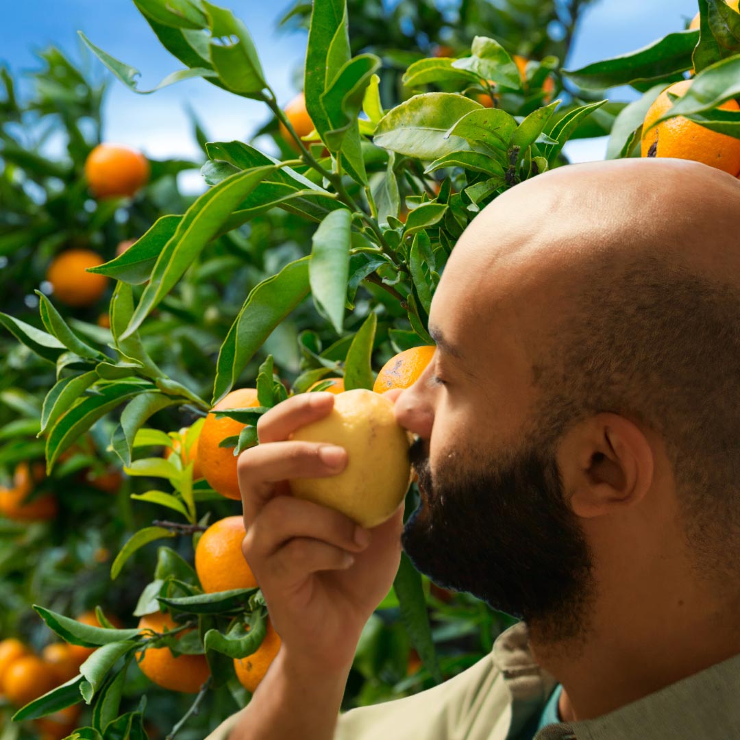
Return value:
<svg viewBox="0 0 740 740">
<path fill-rule="evenodd" d="M 643 157 L 673 157 L 692 159 L 708 164 L 730 175 L 740 172 L 740 139 L 705 129 L 682 115 L 669 118 L 647 130 L 654 121 L 673 107 L 668 93 L 681 97 L 691 86 L 690 80 L 682 80 L 667 87 L 647 110 L 642 133 Z M 721 110 L 740 110 L 734 100 L 720 106 Z"/>
</svg>

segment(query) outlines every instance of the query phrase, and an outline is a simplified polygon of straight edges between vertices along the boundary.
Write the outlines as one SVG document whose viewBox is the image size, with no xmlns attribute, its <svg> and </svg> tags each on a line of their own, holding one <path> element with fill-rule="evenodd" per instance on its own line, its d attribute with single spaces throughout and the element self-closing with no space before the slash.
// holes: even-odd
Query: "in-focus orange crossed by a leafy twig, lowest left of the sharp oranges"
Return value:
<svg viewBox="0 0 740 740">
<path fill-rule="evenodd" d="M 169 614 L 158 611 L 142 616 L 138 626 L 140 630 L 164 633 L 165 628 L 172 630 L 180 625 Z M 184 633 L 178 633 L 177 639 Z M 170 691 L 198 693 L 210 675 L 204 655 L 175 657 L 169 647 L 147 647 L 147 650 L 136 653 L 137 659 L 142 653 L 143 657 L 139 662 L 141 672 L 153 683 Z"/>
</svg>

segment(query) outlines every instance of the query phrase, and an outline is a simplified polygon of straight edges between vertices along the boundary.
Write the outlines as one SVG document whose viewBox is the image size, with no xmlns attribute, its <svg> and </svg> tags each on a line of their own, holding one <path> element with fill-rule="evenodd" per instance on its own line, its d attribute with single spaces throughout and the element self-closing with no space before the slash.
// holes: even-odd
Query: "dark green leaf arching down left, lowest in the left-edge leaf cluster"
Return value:
<svg viewBox="0 0 740 740">
<path fill-rule="evenodd" d="M 95 395 L 75 403 L 56 420 L 46 444 L 47 474 L 62 452 L 70 448 L 98 419 L 121 402 L 147 389 L 141 383 L 112 383 L 95 386 Z"/>
</svg>

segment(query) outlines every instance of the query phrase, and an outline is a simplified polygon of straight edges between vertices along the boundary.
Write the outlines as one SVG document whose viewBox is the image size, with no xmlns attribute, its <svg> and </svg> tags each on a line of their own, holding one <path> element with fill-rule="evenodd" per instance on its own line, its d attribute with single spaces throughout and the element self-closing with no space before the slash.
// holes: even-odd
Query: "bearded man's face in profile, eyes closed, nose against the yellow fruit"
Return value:
<svg viewBox="0 0 740 740">
<path fill-rule="evenodd" d="M 396 403 L 418 435 L 421 494 L 401 542 L 434 582 L 565 639 L 585 625 L 591 560 L 555 451 L 530 418 L 531 361 L 519 339 L 536 306 L 520 308 L 515 292 L 491 300 L 480 275 L 482 266 L 451 259 L 430 314 L 437 351 Z"/>
</svg>

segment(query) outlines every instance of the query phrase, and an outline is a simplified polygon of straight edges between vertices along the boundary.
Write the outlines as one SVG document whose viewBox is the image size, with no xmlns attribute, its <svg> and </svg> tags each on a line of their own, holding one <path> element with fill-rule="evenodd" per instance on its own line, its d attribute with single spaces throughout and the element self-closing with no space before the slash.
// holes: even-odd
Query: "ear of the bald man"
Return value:
<svg viewBox="0 0 740 740">
<path fill-rule="evenodd" d="M 636 423 L 619 414 L 596 414 L 573 426 L 556 457 L 578 517 L 601 517 L 636 505 L 653 482 L 653 447 Z"/>
</svg>

